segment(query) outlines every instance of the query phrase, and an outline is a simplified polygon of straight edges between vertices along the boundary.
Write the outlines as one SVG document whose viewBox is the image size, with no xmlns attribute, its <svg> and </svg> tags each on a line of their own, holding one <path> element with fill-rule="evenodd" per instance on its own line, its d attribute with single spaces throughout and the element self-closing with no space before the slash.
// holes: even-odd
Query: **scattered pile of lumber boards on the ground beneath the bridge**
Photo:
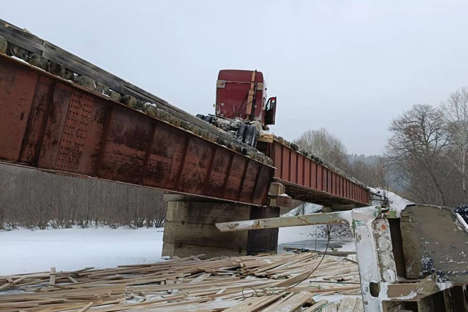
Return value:
<svg viewBox="0 0 468 312">
<path fill-rule="evenodd" d="M 362 311 L 358 268 L 346 257 L 202 257 L 0 276 L 0 312 Z"/>
</svg>

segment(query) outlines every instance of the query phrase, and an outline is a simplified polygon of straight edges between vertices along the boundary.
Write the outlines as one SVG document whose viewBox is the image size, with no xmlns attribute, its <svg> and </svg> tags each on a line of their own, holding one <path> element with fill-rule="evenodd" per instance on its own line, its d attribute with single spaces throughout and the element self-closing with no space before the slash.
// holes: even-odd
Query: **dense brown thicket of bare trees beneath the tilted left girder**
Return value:
<svg viewBox="0 0 468 312">
<path fill-rule="evenodd" d="M 161 227 L 159 190 L 0 164 L 0 228 Z"/>
</svg>

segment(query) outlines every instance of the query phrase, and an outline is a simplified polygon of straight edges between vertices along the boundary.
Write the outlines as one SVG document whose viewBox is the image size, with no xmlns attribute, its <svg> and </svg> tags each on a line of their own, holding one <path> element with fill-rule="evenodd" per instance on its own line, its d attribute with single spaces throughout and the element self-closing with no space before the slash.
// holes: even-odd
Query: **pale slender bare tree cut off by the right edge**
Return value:
<svg viewBox="0 0 468 312">
<path fill-rule="evenodd" d="M 450 138 L 446 156 L 461 179 L 463 201 L 467 202 L 467 160 L 468 160 L 468 88 L 463 87 L 450 94 L 441 107 Z"/>
</svg>

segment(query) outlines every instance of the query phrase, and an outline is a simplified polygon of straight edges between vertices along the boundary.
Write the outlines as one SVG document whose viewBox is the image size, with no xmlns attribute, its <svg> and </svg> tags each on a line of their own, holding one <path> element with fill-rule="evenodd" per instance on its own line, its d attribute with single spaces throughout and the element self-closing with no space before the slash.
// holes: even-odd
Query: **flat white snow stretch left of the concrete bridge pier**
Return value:
<svg viewBox="0 0 468 312">
<path fill-rule="evenodd" d="M 0 275 L 161 261 L 162 228 L 0 232 Z"/>
</svg>

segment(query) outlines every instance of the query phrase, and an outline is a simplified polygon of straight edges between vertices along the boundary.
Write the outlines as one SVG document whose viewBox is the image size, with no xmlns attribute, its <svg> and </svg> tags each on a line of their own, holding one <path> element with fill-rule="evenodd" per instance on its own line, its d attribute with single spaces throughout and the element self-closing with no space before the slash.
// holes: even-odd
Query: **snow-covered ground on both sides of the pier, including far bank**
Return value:
<svg viewBox="0 0 468 312">
<path fill-rule="evenodd" d="M 372 192 L 381 191 L 372 189 Z M 404 209 L 410 202 L 388 192 L 390 209 Z M 380 204 L 378 202 L 374 205 Z M 305 214 L 319 210 L 307 205 Z M 293 215 L 290 212 L 286 215 Z M 317 226 L 280 228 L 278 247 L 324 250 L 326 238 L 315 238 Z M 74 228 L 0 231 L 0 275 L 49 271 L 72 271 L 85 267 L 109 268 L 122 264 L 161 261 L 163 229 Z M 332 237 L 330 248 L 353 251 L 351 237 Z"/>
</svg>

